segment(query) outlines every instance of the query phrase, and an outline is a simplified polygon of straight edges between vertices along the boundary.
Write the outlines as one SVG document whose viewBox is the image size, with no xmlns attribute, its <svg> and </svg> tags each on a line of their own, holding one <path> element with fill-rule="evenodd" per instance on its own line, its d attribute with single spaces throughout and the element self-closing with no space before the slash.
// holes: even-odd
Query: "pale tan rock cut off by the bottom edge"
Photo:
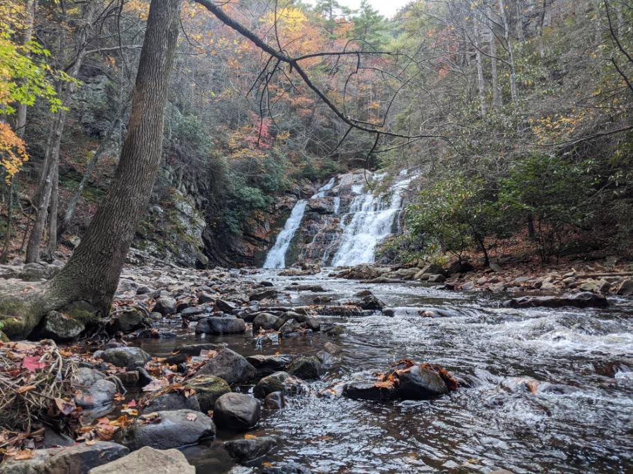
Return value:
<svg viewBox="0 0 633 474">
<path fill-rule="evenodd" d="M 196 468 L 177 449 L 158 449 L 143 446 L 116 461 L 92 468 L 88 474 L 195 474 Z"/>
</svg>

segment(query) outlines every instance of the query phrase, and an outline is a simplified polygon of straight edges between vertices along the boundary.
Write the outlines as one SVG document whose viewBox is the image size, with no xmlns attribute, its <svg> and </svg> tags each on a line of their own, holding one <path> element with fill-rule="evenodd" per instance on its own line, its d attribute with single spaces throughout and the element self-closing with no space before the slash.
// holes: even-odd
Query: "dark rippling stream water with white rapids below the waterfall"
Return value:
<svg viewBox="0 0 633 474">
<path fill-rule="evenodd" d="M 396 312 L 365 317 L 320 316 L 345 326 L 338 337 L 315 333 L 257 343 L 237 336 L 146 339 L 142 347 L 166 355 L 183 343 L 227 343 L 250 354 L 314 354 L 327 341 L 342 361 L 308 382 L 312 395 L 286 397 L 283 410 L 262 410 L 253 435 L 279 446 L 262 462 L 293 461 L 315 473 L 633 472 L 633 301 L 609 298 L 605 310 L 499 307 L 501 296 L 434 290 L 420 283 L 367 284 L 327 276 L 244 276 L 322 285 L 326 293 L 288 292 L 282 304 L 311 304 L 315 296 L 349 298 L 369 289 L 391 307 L 448 310 L 423 317 Z M 283 299 L 285 298 L 285 299 Z M 411 312 L 410 312 L 411 313 Z M 398 315 L 401 314 L 401 315 Z M 461 381 L 457 392 L 431 401 L 363 401 L 317 397 L 344 381 L 373 379 L 403 357 L 437 363 Z M 542 383 L 532 393 L 516 377 Z M 548 390 L 545 383 L 556 384 Z M 562 386 L 561 386 L 562 384 Z M 242 386 L 248 392 L 252 386 Z M 212 442 L 184 448 L 199 474 L 234 465 L 222 442 L 243 437 L 219 432 Z"/>
</svg>

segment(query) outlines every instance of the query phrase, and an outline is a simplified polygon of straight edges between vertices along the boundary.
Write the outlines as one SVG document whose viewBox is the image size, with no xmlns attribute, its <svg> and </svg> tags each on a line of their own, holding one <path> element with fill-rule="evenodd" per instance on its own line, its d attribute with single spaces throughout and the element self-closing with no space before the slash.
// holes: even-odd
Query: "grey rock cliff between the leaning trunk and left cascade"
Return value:
<svg viewBox="0 0 633 474">
<path fill-rule="evenodd" d="M 223 227 L 217 202 L 222 193 L 214 189 L 212 180 L 187 178 L 165 168 L 134 247 L 185 267 L 259 266 L 297 200 L 312 196 L 316 189 L 318 184 L 306 181 L 275 196 L 266 211 L 251 216 L 234 234 Z"/>
</svg>

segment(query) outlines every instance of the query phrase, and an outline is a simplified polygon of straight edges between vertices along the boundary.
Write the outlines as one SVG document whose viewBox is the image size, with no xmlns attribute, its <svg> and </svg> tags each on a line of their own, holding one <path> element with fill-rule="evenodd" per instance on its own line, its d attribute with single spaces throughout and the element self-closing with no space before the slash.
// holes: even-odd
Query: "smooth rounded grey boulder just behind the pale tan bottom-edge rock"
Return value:
<svg viewBox="0 0 633 474">
<path fill-rule="evenodd" d="M 196 444 L 201 439 L 215 436 L 212 419 L 198 411 L 174 410 L 154 413 L 154 419 L 141 419 L 126 430 L 122 439 L 123 444 L 133 451 L 143 446 L 169 449 Z"/>
</svg>

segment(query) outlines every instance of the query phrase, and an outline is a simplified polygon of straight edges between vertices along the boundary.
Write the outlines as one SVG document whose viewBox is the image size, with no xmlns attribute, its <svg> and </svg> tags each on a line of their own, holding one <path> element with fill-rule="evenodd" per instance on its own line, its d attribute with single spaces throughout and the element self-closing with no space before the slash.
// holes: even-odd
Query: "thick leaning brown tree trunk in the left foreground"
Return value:
<svg viewBox="0 0 633 474">
<path fill-rule="evenodd" d="M 51 281 L 48 298 L 82 299 L 102 315 L 109 312 L 125 256 L 149 203 L 160 165 L 180 3 L 152 0 L 149 6 L 129 131 L 113 182 L 80 245 Z"/>
</svg>

